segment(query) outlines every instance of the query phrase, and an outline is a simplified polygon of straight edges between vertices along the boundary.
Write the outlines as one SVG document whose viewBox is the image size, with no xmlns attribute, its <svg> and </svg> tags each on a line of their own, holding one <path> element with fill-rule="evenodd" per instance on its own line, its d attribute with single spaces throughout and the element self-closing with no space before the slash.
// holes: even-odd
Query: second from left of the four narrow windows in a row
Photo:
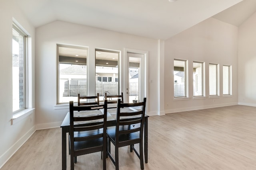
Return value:
<svg viewBox="0 0 256 170">
<path fill-rule="evenodd" d="M 193 95 L 204 96 L 204 63 L 193 62 Z"/>
</svg>

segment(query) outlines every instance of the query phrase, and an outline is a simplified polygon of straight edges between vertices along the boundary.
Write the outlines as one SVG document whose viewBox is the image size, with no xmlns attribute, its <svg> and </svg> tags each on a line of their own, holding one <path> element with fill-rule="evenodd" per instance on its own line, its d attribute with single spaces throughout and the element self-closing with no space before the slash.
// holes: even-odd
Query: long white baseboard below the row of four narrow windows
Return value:
<svg viewBox="0 0 256 170">
<path fill-rule="evenodd" d="M 226 104 L 215 104 L 215 105 L 208 105 L 208 106 L 195 106 L 195 107 L 182 107 L 178 109 L 168 109 L 165 110 L 165 113 L 176 113 L 181 111 L 191 111 L 191 110 L 200 110 L 200 109 L 209 109 L 214 107 L 224 107 L 224 106 L 233 106 L 238 105 L 238 103 L 226 103 Z"/>
</svg>

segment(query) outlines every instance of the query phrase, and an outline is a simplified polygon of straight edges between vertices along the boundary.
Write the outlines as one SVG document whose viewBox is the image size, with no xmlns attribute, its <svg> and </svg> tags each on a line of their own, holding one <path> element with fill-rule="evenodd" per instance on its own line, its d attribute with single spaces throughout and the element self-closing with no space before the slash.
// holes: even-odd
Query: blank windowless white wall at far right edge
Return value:
<svg viewBox="0 0 256 170">
<path fill-rule="evenodd" d="M 256 13 L 239 27 L 238 102 L 256 106 Z"/>
</svg>

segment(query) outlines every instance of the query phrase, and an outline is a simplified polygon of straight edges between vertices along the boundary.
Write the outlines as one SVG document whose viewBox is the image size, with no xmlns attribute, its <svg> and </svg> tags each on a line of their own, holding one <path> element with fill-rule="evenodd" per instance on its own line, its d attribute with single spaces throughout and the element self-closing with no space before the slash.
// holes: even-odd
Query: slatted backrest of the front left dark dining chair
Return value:
<svg viewBox="0 0 256 170">
<path fill-rule="evenodd" d="M 100 109 L 104 109 L 103 113 Z M 79 111 L 79 112 L 74 112 Z M 84 112 L 83 112 L 84 111 Z M 75 115 L 74 115 L 75 113 Z M 100 120 L 102 119 L 102 121 Z M 100 121 L 99 121 L 100 120 Z M 104 104 L 97 106 L 74 106 L 73 101 L 70 101 L 70 152 L 74 151 L 74 142 L 77 141 L 90 141 L 94 139 L 102 138 L 103 141 L 106 141 L 106 129 L 107 129 L 107 101 L 104 101 Z M 88 132 L 92 130 L 100 129 L 96 135 L 92 134 L 91 136 L 79 136 L 74 137 L 76 132 Z M 102 146 L 103 147 L 103 146 Z M 98 147 L 98 150 L 102 148 Z M 87 149 L 88 150 L 88 149 Z M 87 154 L 91 150 L 80 150 L 77 151 L 79 154 Z M 94 150 L 94 149 L 92 149 Z M 95 149 L 96 151 L 96 149 Z"/>
</svg>

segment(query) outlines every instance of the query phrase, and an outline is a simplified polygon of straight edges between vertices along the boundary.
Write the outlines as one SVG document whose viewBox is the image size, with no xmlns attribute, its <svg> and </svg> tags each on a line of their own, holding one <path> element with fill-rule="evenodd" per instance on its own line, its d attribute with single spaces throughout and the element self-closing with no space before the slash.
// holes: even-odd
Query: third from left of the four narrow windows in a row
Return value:
<svg viewBox="0 0 256 170">
<path fill-rule="evenodd" d="M 209 95 L 218 96 L 218 64 L 209 64 Z"/>
</svg>

